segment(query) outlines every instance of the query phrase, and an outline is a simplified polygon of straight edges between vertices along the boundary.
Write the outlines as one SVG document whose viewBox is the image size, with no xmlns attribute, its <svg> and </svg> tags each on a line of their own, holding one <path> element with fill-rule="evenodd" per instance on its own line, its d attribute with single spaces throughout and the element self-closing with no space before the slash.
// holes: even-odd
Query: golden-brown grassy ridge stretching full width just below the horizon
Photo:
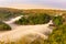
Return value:
<svg viewBox="0 0 66 44">
<path fill-rule="evenodd" d="M 53 10 L 53 9 L 30 9 L 30 10 L 19 10 L 12 8 L 0 8 L 0 20 L 10 20 L 22 14 L 38 14 L 48 13 L 51 15 L 66 13 L 66 10 Z"/>
</svg>

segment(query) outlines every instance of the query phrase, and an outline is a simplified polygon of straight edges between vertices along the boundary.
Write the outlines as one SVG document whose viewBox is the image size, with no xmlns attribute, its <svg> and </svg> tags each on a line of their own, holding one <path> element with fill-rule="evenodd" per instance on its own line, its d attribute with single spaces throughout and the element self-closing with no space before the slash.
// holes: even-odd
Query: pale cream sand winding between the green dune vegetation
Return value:
<svg viewBox="0 0 66 44">
<path fill-rule="evenodd" d="M 12 19 L 7 24 L 14 26 L 12 23 L 19 19 L 21 19 L 22 15 Z M 47 38 L 45 33 L 51 33 L 52 30 L 48 28 L 48 25 L 52 24 L 52 21 L 50 21 L 47 24 L 38 24 L 38 25 L 15 25 L 12 31 L 0 33 L 0 41 L 7 42 L 9 41 L 15 41 L 21 38 L 24 35 L 32 34 L 32 35 L 38 35 L 43 38 Z M 37 37 L 37 36 L 36 36 Z M 35 40 L 32 37 L 32 41 Z"/>
</svg>

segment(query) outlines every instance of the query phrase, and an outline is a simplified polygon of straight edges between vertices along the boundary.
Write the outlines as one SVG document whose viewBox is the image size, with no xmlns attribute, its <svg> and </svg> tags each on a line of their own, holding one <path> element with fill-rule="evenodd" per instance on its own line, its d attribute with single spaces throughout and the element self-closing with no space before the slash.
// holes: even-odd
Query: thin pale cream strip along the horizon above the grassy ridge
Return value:
<svg viewBox="0 0 66 44">
<path fill-rule="evenodd" d="M 58 8 L 14 8 L 14 7 L 0 7 L 0 8 L 10 8 L 10 9 L 19 9 L 19 10 L 32 10 L 32 9 L 66 10 L 66 9 L 58 9 Z"/>
</svg>

